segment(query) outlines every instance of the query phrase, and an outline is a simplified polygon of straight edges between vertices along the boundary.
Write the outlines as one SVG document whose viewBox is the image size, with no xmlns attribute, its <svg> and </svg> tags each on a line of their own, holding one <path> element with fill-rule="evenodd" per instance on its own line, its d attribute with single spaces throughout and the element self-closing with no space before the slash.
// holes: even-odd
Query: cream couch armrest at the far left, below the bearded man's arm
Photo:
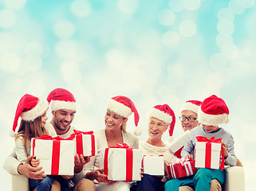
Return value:
<svg viewBox="0 0 256 191">
<path fill-rule="evenodd" d="M 11 184 L 13 191 L 29 191 L 29 178 L 24 175 L 11 175 Z"/>
</svg>

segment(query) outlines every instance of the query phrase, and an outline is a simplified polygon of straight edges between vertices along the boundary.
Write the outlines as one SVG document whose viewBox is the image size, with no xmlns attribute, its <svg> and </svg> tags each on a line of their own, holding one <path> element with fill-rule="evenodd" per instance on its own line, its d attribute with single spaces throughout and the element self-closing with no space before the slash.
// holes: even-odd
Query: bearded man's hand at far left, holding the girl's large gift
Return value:
<svg viewBox="0 0 256 191">
<path fill-rule="evenodd" d="M 32 158 L 35 158 L 35 156 L 30 156 L 26 158 L 26 162 L 18 166 L 18 173 L 36 180 L 40 180 L 43 177 L 46 177 L 46 175 L 44 174 L 45 171 L 41 170 L 41 166 L 33 167 L 30 165 L 30 161 L 32 160 Z"/>
</svg>

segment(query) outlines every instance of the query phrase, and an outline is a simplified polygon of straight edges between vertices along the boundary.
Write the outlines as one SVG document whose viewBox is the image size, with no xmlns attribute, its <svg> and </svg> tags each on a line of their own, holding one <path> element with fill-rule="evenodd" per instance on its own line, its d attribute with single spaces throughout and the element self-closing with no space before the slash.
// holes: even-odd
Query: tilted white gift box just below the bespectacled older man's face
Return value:
<svg viewBox="0 0 256 191">
<path fill-rule="evenodd" d="M 173 142 L 170 144 L 170 150 L 175 154 L 177 158 L 181 158 L 181 150 L 183 149 L 185 143 L 187 142 L 187 138 L 190 131 L 186 131 L 179 138 L 175 138 Z"/>
</svg>

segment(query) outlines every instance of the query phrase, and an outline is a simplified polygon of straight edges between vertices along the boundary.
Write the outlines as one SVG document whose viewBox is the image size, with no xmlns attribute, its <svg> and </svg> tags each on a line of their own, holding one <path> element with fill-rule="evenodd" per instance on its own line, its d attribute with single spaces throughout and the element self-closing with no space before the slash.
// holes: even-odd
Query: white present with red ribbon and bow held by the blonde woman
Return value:
<svg viewBox="0 0 256 191">
<path fill-rule="evenodd" d="M 142 151 L 127 144 L 100 150 L 100 168 L 109 181 L 140 181 Z"/>
</svg>

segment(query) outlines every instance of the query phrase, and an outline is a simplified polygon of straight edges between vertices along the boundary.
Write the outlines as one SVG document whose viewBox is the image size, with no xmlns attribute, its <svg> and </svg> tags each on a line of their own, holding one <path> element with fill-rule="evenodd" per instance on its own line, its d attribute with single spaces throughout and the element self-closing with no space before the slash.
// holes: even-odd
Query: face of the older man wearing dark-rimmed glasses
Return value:
<svg viewBox="0 0 256 191">
<path fill-rule="evenodd" d="M 182 111 L 181 112 L 181 116 L 185 117 L 185 118 L 193 118 L 195 119 L 194 122 L 190 122 L 188 121 L 188 119 L 186 119 L 185 121 L 181 121 L 181 126 L 183 128 L 183 131 L 187 131 L 187 130 L 191 130 L 197 126 L 199 126 L 199 121 L 197 120 L 197 114 L 193 111 Z"/>
</svg>

